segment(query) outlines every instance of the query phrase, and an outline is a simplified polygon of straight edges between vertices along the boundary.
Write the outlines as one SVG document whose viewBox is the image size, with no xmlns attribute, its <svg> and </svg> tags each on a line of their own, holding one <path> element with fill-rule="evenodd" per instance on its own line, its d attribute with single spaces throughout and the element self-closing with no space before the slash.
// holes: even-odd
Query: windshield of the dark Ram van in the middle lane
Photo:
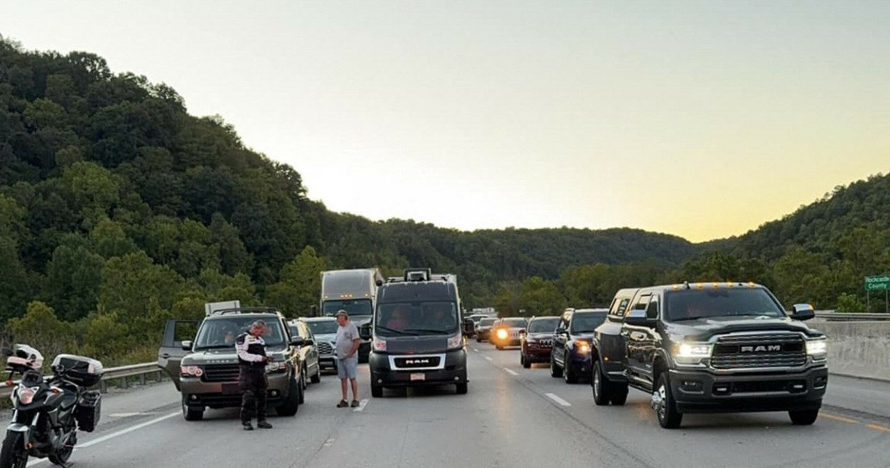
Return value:
<svg viewBox="0 0 890 468">
<path fill-rule="evenodd" d="M 405 302 L 377 306 L 375 327 L 382 337 L 450 335 L 457 333 L 453 302 Z"/>
</svg>

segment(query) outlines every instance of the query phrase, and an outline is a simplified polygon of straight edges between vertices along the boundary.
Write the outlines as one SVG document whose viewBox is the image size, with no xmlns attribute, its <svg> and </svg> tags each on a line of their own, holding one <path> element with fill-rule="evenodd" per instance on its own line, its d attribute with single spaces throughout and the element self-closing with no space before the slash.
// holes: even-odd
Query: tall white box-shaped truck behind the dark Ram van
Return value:
<svg viewBox="0 0 890 468">
<path fill-rule="evenodd" d="M 370 321 L 376 305 L 377 288 L 384 277 L 376 268 L 329 270 L 321 273 L 320 315 L 333 317 L 344 310 L 357 327 Z M 368 362 L 370 340 L 359 345 L 359 362 Z"/>
</svg>

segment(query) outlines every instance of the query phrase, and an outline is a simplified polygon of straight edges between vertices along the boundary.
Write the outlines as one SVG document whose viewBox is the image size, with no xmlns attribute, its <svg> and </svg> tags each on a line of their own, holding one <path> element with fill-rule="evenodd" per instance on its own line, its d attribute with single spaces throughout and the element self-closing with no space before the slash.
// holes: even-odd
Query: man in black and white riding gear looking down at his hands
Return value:
<svg viewBox="0 0 890 468">
<path fill-rule="evenodd" d="M 258 320 L 251 325 L 247 333 L 235 338 L 235 349 L 238 351 L 239 377 L 238 383 L 244 396 L 241 398 L 241 425 L 245 431 L 253 431 L 251 418 L 256 413 L 256 427 L 271 429 L 272 424 L 266 421 L 266 343 L 263 334 L 266 323 Z"/>
</svg>

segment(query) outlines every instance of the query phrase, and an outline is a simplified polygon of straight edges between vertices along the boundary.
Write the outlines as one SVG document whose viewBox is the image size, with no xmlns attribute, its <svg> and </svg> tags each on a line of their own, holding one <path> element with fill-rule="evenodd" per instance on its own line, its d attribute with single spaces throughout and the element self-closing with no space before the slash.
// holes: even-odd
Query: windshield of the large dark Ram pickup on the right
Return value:
<svg viewBox="0 0 890 468">
<path fill-rule="evenodd" d="M 759 288 L 667 291 L 665 301 L 667 321 L 737 315 L 785 316 L 773 297 Z"/>
</svg>

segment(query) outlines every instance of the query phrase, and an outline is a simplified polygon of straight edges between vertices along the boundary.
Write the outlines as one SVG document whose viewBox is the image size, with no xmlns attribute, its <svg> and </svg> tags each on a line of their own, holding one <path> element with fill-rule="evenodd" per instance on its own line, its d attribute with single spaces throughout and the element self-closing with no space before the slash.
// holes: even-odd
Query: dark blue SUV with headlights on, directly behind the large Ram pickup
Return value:
<svg viewBox="0 0 890 468">
<path fill-rule="evenodd" d="M 567 384 L 590 375 L 590 341 L 594 330 L 606 319 L 609 309 L 566 309 L 554 331 L 550 353 L 550 375 L 564 377 Z"/>
</svg>

